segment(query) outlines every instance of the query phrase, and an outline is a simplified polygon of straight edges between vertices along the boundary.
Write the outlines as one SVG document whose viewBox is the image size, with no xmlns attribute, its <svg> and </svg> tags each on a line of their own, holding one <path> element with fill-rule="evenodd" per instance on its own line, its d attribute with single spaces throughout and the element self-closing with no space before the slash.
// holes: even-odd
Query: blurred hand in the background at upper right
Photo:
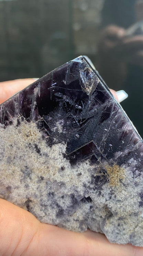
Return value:
<svg viewBox="0 0 143 256">
<path fill-rule="evenodd" d="M 101 32 L 99 57 L 108 57 L 109 62 L 130 63 L 143 67 L 143 35 L 126 36 L 126 30 L 110 25 Z"/>
</svg>

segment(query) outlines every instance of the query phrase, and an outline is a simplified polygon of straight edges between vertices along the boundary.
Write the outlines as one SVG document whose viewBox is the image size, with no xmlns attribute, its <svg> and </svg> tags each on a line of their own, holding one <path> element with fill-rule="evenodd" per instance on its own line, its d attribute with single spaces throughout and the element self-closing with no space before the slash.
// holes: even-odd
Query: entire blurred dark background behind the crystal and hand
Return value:
<svg viewBox="0 0 143 256">
<path fill-rule="evenodd" d="M 143 137 L 142 0 L 0 0 L 0 81 L 87 55 Z"/>
</svg>

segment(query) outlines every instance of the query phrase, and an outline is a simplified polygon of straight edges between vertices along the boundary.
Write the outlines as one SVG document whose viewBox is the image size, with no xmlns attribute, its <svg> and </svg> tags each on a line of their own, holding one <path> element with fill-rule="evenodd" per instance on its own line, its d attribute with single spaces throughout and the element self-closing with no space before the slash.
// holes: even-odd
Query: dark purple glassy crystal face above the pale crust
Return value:
<svg viewBox="0 0 143 256">
<path fill-rule="evenodd" d="M 108 161 L 129 147 L 131 153 L 125 156 L 126 162 L 142 150 L 141 138 L 128 117 L 84 57 L 45 75 L 1 104 L 0 109 L 4 127 L 11 125 L 15 117 L 19 124 L 23 117 L 36 122 L 48 146 L 64 141 L 65 157 L 71 164 L 87 158 L 91 162 Z M 54 129 L 57 122 L 62 133 Z M 132 147 L 139 140 L 141 147 L 133 154 Z M 122 162 L 119 156 L 117 163 Z"/>
</svg>

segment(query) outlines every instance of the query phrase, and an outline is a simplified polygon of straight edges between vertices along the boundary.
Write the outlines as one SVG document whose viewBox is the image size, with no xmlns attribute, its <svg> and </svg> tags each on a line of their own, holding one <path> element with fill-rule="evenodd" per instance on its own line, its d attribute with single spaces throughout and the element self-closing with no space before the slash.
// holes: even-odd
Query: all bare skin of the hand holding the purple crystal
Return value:
<svg viewBox="0 0 143 256">
<path fill-rule="evenodd" d="M 33 79 L 0 82 L 0 102 Z M 115 95 L 115 91 L 112 90 Z M 77 233 L 40 223 L 30 212 L 0 199 L 0 256 L 142 256 L 143 247 L 110 244 L 100 233 Z"/>
</svg>

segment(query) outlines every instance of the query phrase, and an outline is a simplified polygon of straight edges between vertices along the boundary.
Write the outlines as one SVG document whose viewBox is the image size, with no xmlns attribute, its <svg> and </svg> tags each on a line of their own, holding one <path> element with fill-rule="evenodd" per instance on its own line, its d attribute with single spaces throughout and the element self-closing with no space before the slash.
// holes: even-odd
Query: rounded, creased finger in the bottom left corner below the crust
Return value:
<svg viewBox="0 0 143 256">
<path fill-rule="evenodd" d="M 28 211 L 0 199 L 0 255 L 21 255 L 39 229 L 39 223 Z"/>
</svg>

